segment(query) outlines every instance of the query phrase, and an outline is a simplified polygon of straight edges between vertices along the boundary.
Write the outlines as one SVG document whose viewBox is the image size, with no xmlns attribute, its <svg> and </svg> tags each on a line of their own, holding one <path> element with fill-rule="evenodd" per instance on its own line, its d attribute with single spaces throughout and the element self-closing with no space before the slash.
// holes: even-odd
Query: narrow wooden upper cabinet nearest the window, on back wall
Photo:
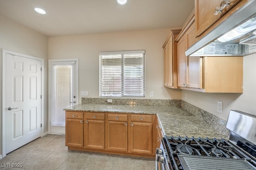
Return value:
<svg viewBox="0 0 256 170">
<path fill-rule="evenodd" d="M 177 43 L 181 30 L 171 30 L 164 42 L 164 86 L 177 88 Z"/>
</svg>

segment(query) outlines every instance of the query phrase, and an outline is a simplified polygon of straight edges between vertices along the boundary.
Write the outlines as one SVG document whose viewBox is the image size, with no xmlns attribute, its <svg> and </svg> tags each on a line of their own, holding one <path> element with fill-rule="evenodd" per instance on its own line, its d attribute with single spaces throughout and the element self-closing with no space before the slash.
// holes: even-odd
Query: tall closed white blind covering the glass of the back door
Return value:
<svg viewBox="0 0 256 170">
<path fill-rule="evenodd" d="M 65 126 L 65 111 L 74 95 L 75 62 L 51 63 L 51 126 Z"/>
</svg>

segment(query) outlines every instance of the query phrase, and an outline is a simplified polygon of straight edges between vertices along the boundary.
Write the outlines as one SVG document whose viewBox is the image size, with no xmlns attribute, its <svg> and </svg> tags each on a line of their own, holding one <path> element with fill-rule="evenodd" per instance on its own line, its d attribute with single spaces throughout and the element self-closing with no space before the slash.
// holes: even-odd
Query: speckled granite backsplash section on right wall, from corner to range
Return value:
<svg viewBox="0 0 256 170">
<path fill-rule="evenodd" d="M 204 111 L 185 101 L 181 101 L 181 107 L 195 117 L 198 117 L 198 119 L 205 121 L 208 125 L 215 128 L 225 136 L 230 135 L 230 131 L 226 128 L 227 121 L 224 121 L 223 119 L 220 119 L 219 117 L 216 117 L 215 115 L 212 115 L 211 113 Z"/>
</svg>

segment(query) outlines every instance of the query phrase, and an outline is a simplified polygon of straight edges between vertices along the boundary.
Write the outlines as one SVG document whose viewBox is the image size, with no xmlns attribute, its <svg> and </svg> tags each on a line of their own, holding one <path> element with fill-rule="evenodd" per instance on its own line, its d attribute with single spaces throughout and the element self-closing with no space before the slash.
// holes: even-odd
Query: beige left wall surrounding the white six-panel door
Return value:
<svg viewBox="0 0 256 170">
<path fill-rule="evenodd" d="M 48 131 L 48 38 L 0 15 L 0 155 L 2 154 L 2 49 L 44 59 L 44 132 Z"/>
</svg>

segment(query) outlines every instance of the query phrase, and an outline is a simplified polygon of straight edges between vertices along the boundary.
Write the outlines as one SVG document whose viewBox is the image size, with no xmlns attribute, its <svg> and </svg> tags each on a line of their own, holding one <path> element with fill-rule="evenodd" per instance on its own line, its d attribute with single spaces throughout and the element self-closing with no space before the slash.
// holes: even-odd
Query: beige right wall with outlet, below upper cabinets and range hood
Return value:
<svg viewBox="0 0 256 170">
<path fill-rule="evenodd" d="M 200 93 L 182 90 L 182 100 L 224 120 L 231 109 L 256 115 L 256 53 L 244 56 L 244 93 Z M 185 99 L 185 93 L 187 99 Z M 223 102 L 223 113 L 217 112 L 217 101 Z"/>
</svg>

